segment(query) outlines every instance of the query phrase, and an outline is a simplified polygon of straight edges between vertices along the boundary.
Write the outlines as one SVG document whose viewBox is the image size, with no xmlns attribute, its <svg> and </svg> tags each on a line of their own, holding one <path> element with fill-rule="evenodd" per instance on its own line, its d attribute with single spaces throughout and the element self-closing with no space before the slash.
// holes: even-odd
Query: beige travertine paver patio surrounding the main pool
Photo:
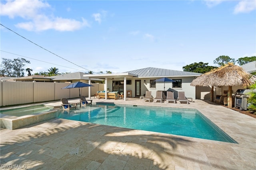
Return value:
<svg viewBox="0 0 256 170">
<path fill-rule="evenodd" d="M 16 130 L 1 129 L 1 168 L 256 169 L 256 119 L 248 115 L 201 100 L 187 105 L 93 99 L 93 103 L 99 101 L 198 109 L 238 144 L 54 119 Z"/>
</svg>

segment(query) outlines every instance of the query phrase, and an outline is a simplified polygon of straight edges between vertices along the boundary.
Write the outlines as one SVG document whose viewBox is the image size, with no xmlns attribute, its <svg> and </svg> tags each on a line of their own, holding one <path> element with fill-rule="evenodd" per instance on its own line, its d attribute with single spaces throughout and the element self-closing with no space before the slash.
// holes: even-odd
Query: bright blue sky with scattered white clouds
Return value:
<svg viewBox="0 0 256 170">
<path fill-rule="evenodd" d="M 256 56 L 255 0 L 1 0 L 0 23 L 1 62 L 24 58 L 32 74 L 183 71 Z"/>
</svg>

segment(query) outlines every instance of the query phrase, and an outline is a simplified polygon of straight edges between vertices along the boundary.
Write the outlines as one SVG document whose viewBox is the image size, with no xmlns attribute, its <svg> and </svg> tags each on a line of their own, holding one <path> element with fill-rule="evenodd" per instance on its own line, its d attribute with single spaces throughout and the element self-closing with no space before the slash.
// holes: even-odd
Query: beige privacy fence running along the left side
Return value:
<svg viewBox="0 0 256 170">
<path fill-rule="evenodd" d="M 0 106 L 56 101 L 61 98 L 79 97 L 79 89 L 61 89 L 68 83 L 0 81 Z M 104 84 L 92 83 L 91 96 L 104 90 Z M 80 88 L 80 94 L 88 97 L 89 87 Z"/>
</svg>

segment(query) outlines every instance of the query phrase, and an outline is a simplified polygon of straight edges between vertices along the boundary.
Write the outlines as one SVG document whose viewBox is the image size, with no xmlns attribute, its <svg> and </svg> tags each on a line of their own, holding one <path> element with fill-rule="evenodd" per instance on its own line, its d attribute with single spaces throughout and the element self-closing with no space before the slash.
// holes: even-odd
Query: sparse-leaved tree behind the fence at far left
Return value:
<svg viewBox="0 0 256 170">
<path fill-rule="evenodd" d="M 30 63 L 30 61 L 24 58 L 13 59 L 13 61 L 2 58 L 1 74 L 5 74 L 8 77 L 23 77 L 26 63 Z"/>
</svg>

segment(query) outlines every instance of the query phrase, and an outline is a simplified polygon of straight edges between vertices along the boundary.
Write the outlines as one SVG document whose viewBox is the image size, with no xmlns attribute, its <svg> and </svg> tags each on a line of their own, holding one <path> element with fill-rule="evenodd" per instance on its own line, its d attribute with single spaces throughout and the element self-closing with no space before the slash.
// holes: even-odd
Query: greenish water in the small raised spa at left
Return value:
<svg viewBox="0 0 256 170">
<path fill-rule="evenodd" d="M 34 115 L 37 113 L 49 111 L 50 109 L 53 109 L 53 107 L 45 105 L 32 105 L 28 107 L 17 107 L 13 109 L 1 109 L 0 114 L 20 117 L 25 115 Z"/>
</svg>

